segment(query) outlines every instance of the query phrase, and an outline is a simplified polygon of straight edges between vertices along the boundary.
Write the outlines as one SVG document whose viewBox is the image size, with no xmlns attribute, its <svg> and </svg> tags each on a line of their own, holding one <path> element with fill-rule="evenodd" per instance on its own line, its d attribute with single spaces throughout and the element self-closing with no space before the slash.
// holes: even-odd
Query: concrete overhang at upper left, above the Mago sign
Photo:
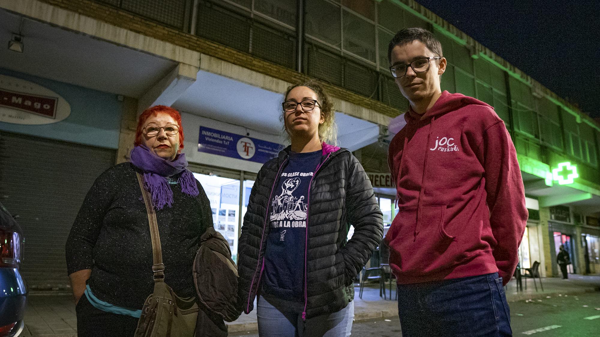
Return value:
<svg viewBox="0 0 600 337">
<path fill-rule="evenodd" d="M 0 0 L 0 67 L 170 105 L 196 80 L 200 53 L 37 0 Z"/>
</svg>

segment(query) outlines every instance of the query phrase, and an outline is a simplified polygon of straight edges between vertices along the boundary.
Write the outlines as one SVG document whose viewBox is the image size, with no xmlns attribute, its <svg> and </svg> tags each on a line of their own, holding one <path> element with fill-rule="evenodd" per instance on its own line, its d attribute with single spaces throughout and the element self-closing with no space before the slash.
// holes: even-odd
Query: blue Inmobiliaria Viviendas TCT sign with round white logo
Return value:
<svg viewBox="0 0 600 337">
<path fill-rule="evenodd" d="M 266 163 L 269 159 L 277 157 L 281 148 L 281 144 L 274 142 L 200 126 L 199 152 Z"/>
</svg>

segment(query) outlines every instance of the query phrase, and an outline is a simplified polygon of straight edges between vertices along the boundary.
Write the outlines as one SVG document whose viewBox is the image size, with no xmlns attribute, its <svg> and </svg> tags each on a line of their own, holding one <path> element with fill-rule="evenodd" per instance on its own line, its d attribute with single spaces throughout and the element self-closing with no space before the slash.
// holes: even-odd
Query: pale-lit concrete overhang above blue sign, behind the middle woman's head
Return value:
<svg viewBox="0 0 600 337">
<path fill-rule="evenodd" d="M 197 116 L 243 126 L 269 135 L 283 135 L 283 94 L 290 83 L 202 54 L 197 80 L 173 107 Z M 333 98 L 338 145 L 358 150 L 377 142 L 379 125 L 389 117 Z M 282 141 L 284 138 L 281 138 Z"/>
</svg>

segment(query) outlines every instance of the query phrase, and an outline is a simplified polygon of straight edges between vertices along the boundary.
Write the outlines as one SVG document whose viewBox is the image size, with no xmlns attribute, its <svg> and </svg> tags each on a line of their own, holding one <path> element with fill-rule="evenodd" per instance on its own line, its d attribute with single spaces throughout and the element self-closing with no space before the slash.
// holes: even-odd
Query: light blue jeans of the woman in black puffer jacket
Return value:
<svg viewBox="0 0 600 337">
<path fill-rule="evenodd" d="M 347 337 L 350 336 L 354 318 L 354 302 L 332 314 L 320 315 L 302 321 L 304 303 L 294 308 L 269 303 L 260 296 L 256 304 L 256 316 L 261 337 Z"/>
</svg>

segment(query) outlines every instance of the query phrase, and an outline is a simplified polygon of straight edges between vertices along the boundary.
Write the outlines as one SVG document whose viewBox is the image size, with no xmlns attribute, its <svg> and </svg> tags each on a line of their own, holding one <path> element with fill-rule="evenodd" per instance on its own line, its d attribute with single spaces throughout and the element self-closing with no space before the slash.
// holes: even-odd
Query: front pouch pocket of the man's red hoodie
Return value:
<svg viewBox="0 0 600 337">
<path fill-rule="evenodd" d="M 444 229 L 446 205 L 407 207 L 386 235 L 390 264 L 401 272 L 424 275 L 455 265 L 454 236 Z"/>
</svg>

